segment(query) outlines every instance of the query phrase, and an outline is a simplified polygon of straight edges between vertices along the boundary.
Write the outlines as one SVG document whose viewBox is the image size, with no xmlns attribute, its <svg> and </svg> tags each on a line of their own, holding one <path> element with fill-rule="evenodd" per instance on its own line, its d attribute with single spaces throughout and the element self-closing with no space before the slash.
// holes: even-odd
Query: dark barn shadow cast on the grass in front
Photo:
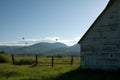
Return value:
<svg viewBox="0 0 120 80">
<path fill-rule="evenodd" d="M 54 80 L 120 80 L 120 70 L 76 69 L 58 76 Z"/>
</svg>

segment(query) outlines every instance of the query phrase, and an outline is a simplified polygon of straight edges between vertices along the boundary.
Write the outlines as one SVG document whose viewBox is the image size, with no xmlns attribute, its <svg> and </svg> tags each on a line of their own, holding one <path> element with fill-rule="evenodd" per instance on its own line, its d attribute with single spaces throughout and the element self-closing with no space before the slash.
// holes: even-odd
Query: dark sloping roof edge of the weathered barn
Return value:
<svg viewBox="0 0 120 80">
<path fill-rule="evenodd" d="M 97 17 L 97 19 L 94 21 L 94 23 L 90 26 L 90 28 L 87 30 L 87 32 L 82 36 L 82 38 L 79 40 L 78 44 L 83 40 L 83 38 L 86 36 L 86 34 L 89 32 L 89 30 L 94 26 L 94 24 L 98 21 L 98 19 L 104 14 L 106 10 L 108 10 L 111 5 L 117 0 L 110 0 L 106 8 L 103 10 L 103 12 Z"/>
</svg>

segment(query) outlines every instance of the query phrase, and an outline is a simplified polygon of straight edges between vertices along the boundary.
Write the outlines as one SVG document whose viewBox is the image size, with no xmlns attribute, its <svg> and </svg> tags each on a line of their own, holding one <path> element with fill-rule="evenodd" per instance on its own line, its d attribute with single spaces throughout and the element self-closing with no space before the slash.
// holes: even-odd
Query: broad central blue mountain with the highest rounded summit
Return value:
<svg viewBox="0 0 120 80">
<path fill-rule="evenodd" d="M 15 49 L 12 51 L 15 54 L 47 54 L 46 52 L 56 49 L 56 48 L 66 48 L 66 46 L 63 43 L 37 43 L 31 46 L 25 46 L 22 48 Z"/>
</svg>

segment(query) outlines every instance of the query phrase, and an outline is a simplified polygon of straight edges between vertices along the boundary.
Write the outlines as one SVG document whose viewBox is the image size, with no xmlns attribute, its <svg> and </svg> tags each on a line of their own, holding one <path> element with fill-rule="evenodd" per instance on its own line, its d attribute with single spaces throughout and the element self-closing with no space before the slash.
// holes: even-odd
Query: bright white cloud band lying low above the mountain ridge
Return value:
<svg viewBox="0 0 120 80">
<path fill-rule="evenodd" d="M 68 46 L 72 46 L 79 41 L 80 37 L 73 38 L 72 40 L 69 39 L 62 39 L 60 37 L 45 37 L 43 39 L 24 39 L 21 41 L 12 41 L 12 42 L 4 42 L 0 43 L 0 45 L 7 45 L 7 46 L 29 46 L 39 42 L 61 42 Z"/>
</svg>

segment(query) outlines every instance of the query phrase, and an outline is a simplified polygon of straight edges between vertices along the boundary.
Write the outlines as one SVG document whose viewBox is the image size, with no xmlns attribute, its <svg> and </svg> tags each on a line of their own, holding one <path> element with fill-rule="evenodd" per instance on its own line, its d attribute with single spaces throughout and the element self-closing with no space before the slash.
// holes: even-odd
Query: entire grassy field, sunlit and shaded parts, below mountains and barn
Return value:
<svg viewBox="0 0 120 80">
<path fill-rule="evenodd" d="M 10 59 L 10 58 L 9 58 Z M 102 71 L 80 69 L 80 58 L 54 58 L 51 66 L 51 57 L 16 57 L 15 65 L 12 59 L 9 63 L 0 63 L 0 80 L 120 80 L 120 71 Z"/>
</svg>

